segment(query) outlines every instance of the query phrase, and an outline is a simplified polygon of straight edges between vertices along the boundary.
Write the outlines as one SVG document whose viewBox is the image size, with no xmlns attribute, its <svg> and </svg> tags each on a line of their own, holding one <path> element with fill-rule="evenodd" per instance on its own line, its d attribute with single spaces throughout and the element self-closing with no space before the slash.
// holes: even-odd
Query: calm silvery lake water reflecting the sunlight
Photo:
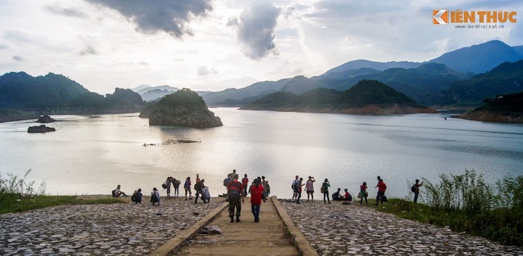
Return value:
<svg viewBox="0 0 523 256">
<path fill-rule="evenodd" d="M 216 196 L 236 169 L 266 176 L 272 194 L 290 198 L 295 175 L 324 178 L 356 194 L 376 176 L 389 196 L 408 194 L 407 181 L 474 169 L 489 180 L 523 174 L 523 126 L 440 115 L 356 116 L 211 108 L 224 126 L 207 130 L 149 126 L 138 114 L 53 116 L 56 132 L 28 134 L 32 121 L 0 124 L 0 173 L 45 181 L 47 194 L 109 194 L 160 188 L 167 176 L 200 174 Z M 169 139 L 199 143 L 162 145 Z M 142 146 L 155 143 L 156 146 Z M 182 193 L 182 191 L 180 191 Z M 332 193 L 332 191 L 331 191 Z"/>
</svg>

